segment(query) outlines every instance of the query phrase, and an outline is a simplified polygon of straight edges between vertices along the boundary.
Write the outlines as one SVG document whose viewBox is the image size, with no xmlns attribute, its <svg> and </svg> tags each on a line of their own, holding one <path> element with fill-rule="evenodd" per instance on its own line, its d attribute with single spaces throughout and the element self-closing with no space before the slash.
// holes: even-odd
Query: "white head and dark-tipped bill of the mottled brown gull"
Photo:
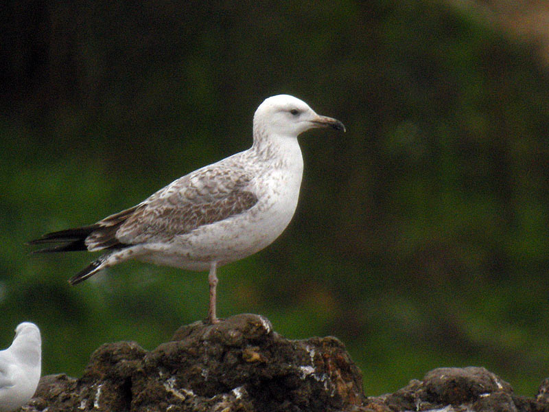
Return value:
<svg viewBox="0 0 549 412">
<path fill-rule="evenodd" d="M 317 115 L 303 100 L 290 95 L 276 95 L 264 100 L 253 117 L 254 137 L 264 134 L 298 137 L 315 127 L 345 130 L 339 120 Z"/>
</svg>

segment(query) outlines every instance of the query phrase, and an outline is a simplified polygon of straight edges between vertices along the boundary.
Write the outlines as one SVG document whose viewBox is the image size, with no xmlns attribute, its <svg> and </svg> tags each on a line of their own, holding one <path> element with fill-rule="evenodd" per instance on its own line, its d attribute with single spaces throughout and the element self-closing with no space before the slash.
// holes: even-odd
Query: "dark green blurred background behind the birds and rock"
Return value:
<svg viewBox="0 0 549 412">
<path fill-rule="evenodd" d="M 334 335 L 367 395 L 484 366 L 549 376 L 549 76 L 475 2 L 8 0 L 0 11 L 0 345 L 43 334 L 43 374 L 148 350 L 204 319 L 207 275 L 139 262 L 69 287 L 95 255 L 30 255 L 245 150 L 290 93 L 347 133 L 300 138 L 301 198 L 270 247 L 219 271 L 218 314 Z M 509 2 L 508 2 L 509 3 Z"/>
</svg>

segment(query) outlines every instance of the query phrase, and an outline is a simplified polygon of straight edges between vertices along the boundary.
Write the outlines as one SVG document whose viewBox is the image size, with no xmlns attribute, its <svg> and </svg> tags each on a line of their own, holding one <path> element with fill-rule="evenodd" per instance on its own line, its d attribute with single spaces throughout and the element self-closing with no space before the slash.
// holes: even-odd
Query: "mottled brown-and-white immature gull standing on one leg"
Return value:
<svg viewBox="0 0 549 412">
<path fill-rule="evenodd" d="M 297 137 L 317 127 L 345 130 L 293 96 L 272 96 L 255 111 L 250 149 L 191 172 L 94 225 L 30 243 L 63 243 L 36 252 L 106 251 L 70 284 L 129 259 L 209 270 L 208 317 L 216 323 L 216 268 L 260 251 L 288 226 L 303 175 Z"/>
</svg>

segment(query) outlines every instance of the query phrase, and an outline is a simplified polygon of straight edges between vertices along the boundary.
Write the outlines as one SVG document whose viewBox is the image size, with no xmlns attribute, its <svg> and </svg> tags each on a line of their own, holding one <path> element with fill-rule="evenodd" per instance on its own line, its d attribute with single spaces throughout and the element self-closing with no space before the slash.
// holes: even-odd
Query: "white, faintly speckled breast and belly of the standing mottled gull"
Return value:
<svg viewBox="0 0 549 412">
<path fill-rule="evenodd" d="M 178 236 L 166 244 L 148 245 L 155 253 L 143 260 L 204 271 L 212 261 L 218 265 L 252 255 L 277 239 L 296 210 L 303 176 L 303 157 L 297 139 L 288 139 L 277 148 L 270 161 L 255 162 L 256 176 L 250 190 L 257 204 L 248 211 Z M 162 250 L 161 250 L 162 249 Z M 160 253 L 159 253 L 160 252 Z"/>
</svg>

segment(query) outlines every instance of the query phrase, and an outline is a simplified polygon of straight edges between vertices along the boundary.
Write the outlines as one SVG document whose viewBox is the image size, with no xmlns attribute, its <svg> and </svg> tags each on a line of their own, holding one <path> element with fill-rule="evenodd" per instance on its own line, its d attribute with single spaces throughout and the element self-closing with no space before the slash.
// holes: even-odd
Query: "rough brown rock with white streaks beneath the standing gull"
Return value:
<svg viewBox="0 0 549 412">
<path fill-rule="evenodd" d="M 549 380 L 537 398 L 482 367 L 439 368 L 395 393 L 366 398 L 360 371 L 338 339 L 289 341 L 255 314 L 183 326 L 150 352 L 107 343 L 82 378 L 44 376 L 24 411 L 528 411 L 549 412 Z"/>
</svg>

